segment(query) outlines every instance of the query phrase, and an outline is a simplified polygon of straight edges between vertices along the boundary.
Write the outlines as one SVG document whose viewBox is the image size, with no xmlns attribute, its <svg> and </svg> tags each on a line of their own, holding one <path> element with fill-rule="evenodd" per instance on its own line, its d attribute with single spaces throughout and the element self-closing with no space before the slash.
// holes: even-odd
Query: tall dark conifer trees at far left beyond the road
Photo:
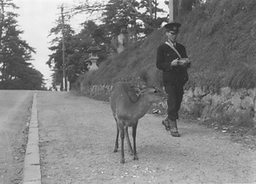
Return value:
<svg viewBox="0 0 256 184">
<path fill-rule="evenodd" d="M 0 89 L 42 89 L 43 75 L 29 62 L 35 51 L 20 40 L 23 32 L 16 29 L 18 15 L 8 10 L 17 7 L 12 0 L 2 0 L 0 6 Z"/>
</svg>

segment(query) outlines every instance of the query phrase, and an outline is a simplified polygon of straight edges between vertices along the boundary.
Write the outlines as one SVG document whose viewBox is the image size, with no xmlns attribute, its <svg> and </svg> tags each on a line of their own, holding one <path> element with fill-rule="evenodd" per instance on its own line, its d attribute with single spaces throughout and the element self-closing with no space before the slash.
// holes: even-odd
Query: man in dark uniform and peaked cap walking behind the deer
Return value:
<svg viewBox="0 0 256 184">
<path fill-rule="evenodd" d="M 156 66 L 162 71 L 163 83 L 168 94 L 167 114 L 162 124 L 174 137 L 180 137 L 177 131 L 178 110 L 183 100 L 183 86 L 188 81 L 187 68 L 190 66 L 185 47 L 177 43 L 179 23 L 166 24 L 166 43 L 160 44 L 157 49 Z"/>
</svg>

